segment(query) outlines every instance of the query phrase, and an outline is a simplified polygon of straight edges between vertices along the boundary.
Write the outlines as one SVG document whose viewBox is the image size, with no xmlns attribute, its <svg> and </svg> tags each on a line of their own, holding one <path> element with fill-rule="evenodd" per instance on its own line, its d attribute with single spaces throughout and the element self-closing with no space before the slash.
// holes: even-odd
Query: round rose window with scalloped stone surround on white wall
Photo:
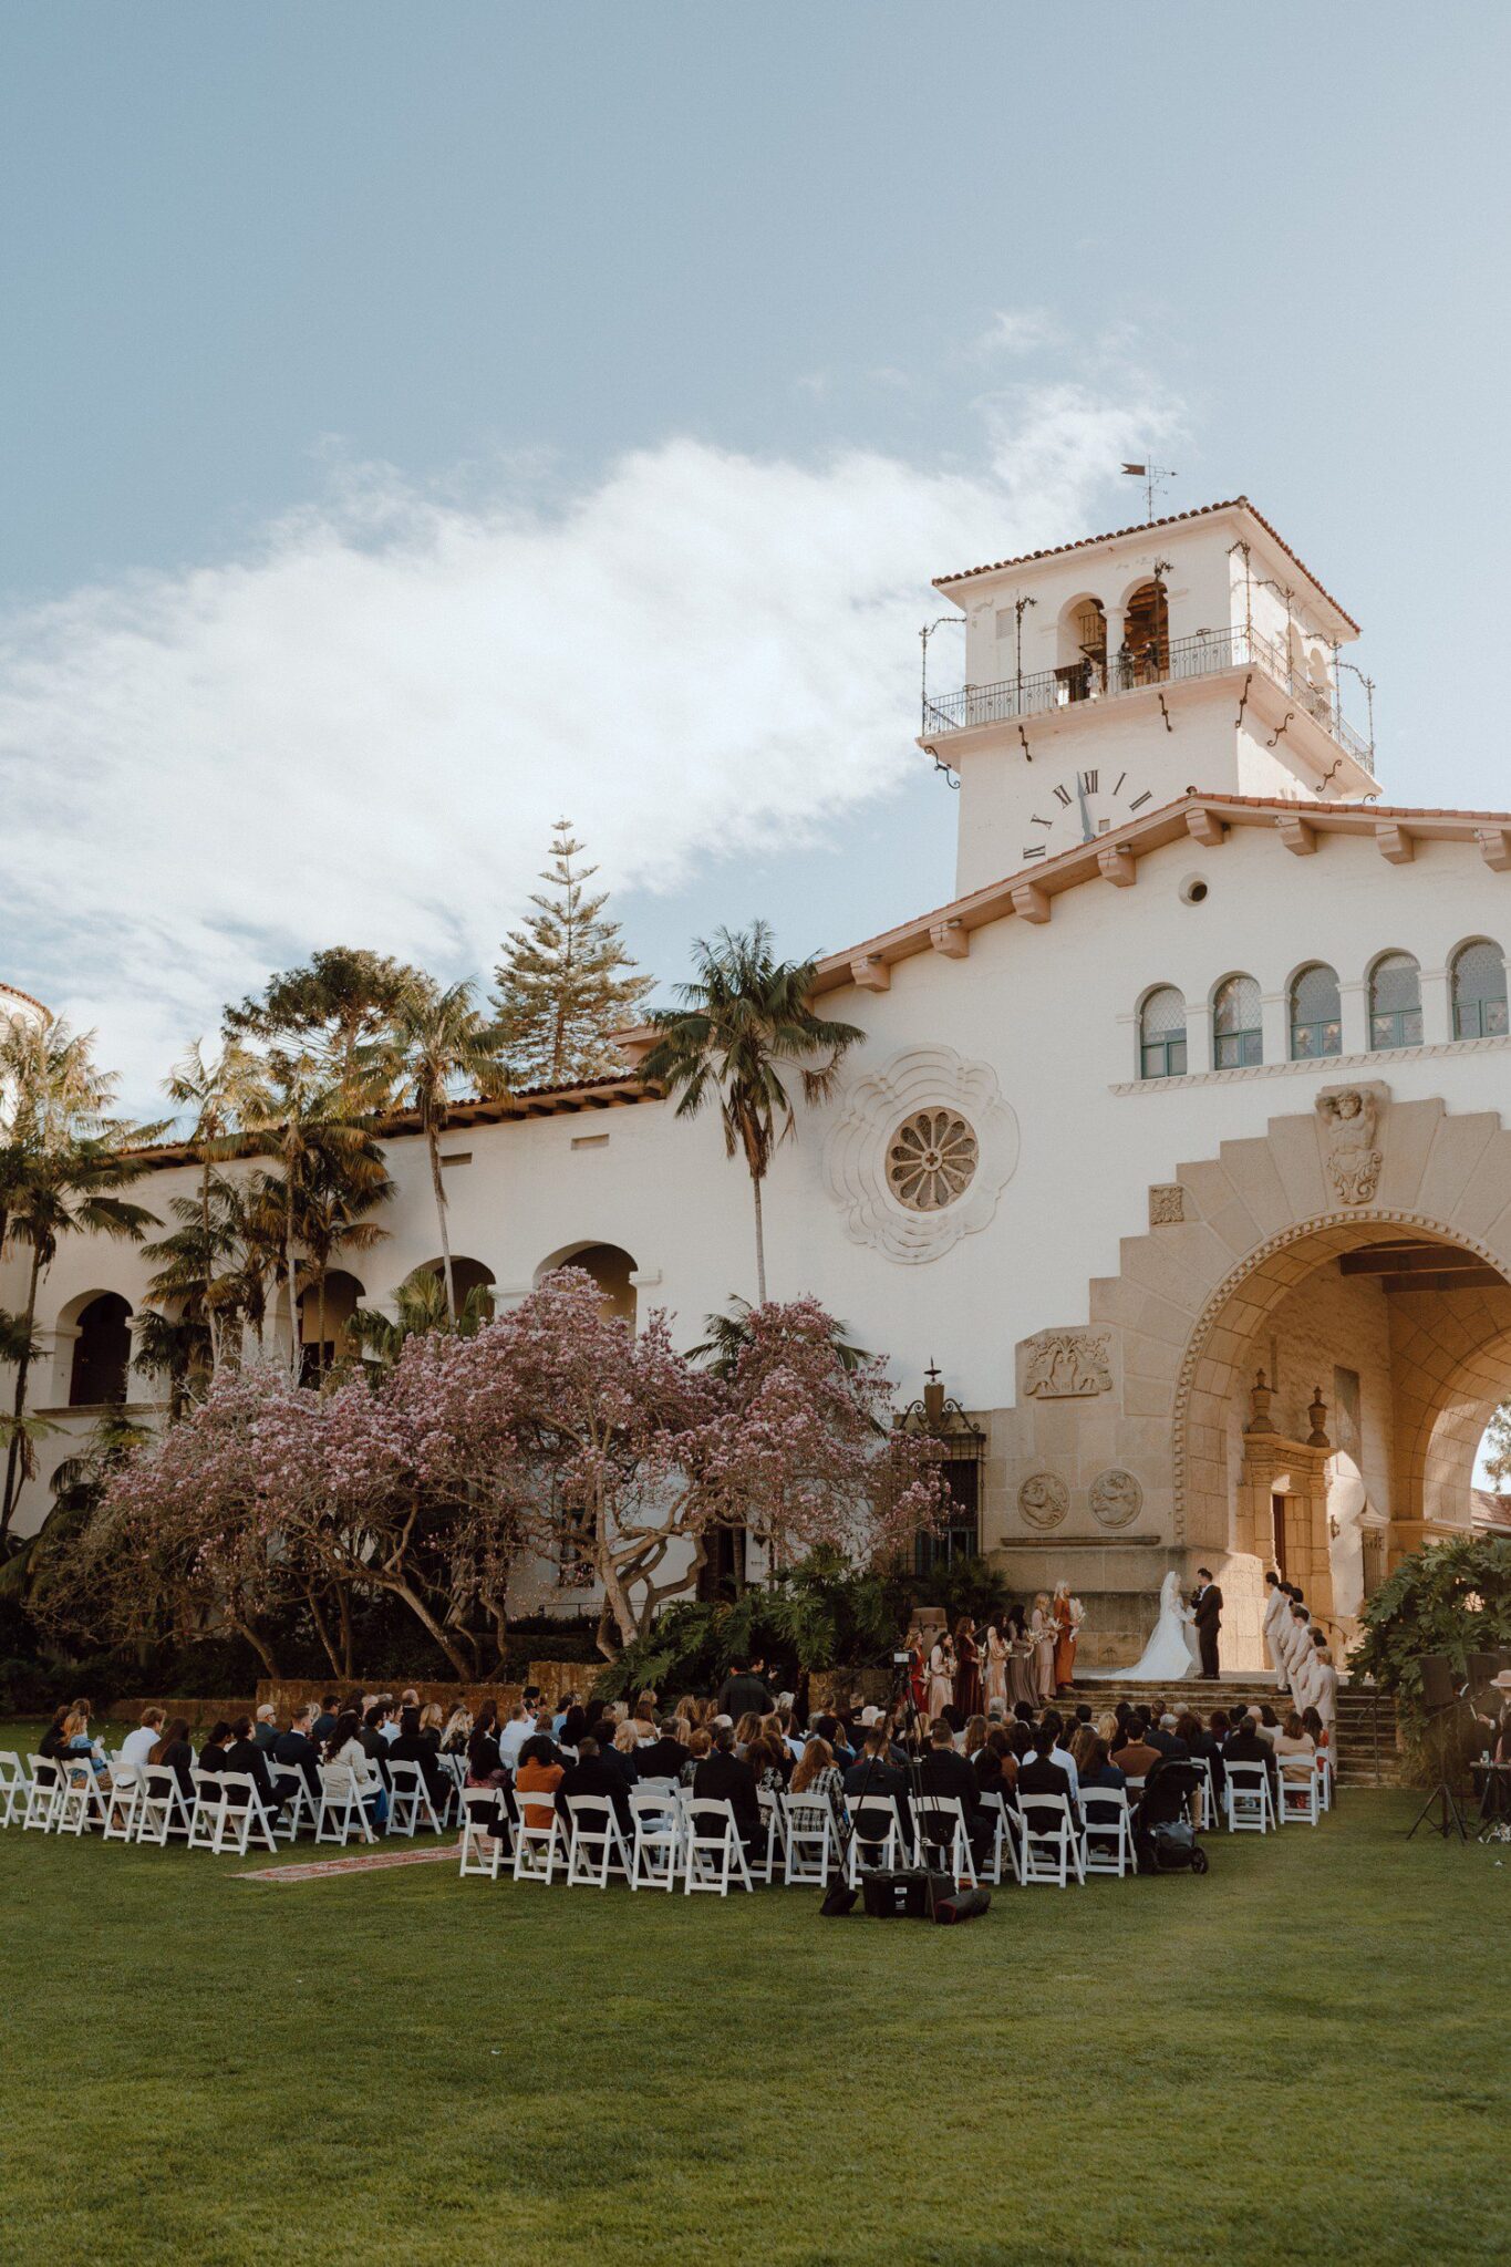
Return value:
<svg viewBox="0 0 1511 2267">
<path fill-rule="evenodd" d="M 1017 1118 L 997 1072 L 954 1047 L 904 1047 L 856 1079 L 822 1161 L 845 1233 L 904 1265 L 983 1229 L 1015 1168 Z"/>
</svg>

